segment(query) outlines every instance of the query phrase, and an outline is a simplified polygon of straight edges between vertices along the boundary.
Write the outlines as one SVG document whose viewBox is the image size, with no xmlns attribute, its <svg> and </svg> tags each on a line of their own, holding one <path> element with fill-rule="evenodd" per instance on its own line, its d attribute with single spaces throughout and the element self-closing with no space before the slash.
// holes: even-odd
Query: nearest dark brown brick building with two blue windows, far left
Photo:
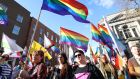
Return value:
<svg viewBox="0 0 140 79">
<path fill-rule="evenodd" d="M 29 32 L 30 12 L 14 0 L 0 0 L 0 7 L 8 15 L 8 24 L 5 26 L 0 25 L 0 43 L 2 34 L 5 33 L 24 48 Z"/>
</svg>

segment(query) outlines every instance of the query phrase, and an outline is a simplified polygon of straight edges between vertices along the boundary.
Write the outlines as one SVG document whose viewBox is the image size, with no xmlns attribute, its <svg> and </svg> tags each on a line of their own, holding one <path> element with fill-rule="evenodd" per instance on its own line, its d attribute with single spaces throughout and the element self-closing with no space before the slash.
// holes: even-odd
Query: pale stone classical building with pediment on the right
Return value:
<svg viewBox="0 0 140 79">
<path fill-rule="evenodd" d="M 136 42 L 140 43 L 140 13 L 138 10 L 130 9 L 108 15 L 106 20 L 117 38 L 126 46 L 128 53 L 131 54 L 129 48 Z M 103 19 L 99 23 L 105 25 Z"/>
</svg>

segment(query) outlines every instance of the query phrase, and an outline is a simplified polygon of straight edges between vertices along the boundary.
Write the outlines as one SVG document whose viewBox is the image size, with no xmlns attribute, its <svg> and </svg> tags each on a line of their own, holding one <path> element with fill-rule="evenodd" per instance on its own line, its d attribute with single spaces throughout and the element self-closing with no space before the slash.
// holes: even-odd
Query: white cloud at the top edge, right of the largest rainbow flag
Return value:
<svg viewBox="0 0 140 79">
<path fill-rule="evenodd" d="M 94 0 L 94 3 L 105 8 L 110 8 L 114 5 L 114 0 Z"/>
</svg>

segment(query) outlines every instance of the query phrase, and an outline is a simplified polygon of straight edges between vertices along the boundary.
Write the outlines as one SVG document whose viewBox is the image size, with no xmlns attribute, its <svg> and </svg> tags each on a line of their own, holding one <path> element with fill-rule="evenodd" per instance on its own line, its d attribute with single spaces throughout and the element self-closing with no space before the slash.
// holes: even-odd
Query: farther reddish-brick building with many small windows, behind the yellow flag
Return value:
<svg viewBox="0 0 140 79">
<path fill-rule="evenodd" d="M 30 31 L 28 34 L 27 47 L 29 48 L 29 46 L 31 45 L 32 39 L 43 46 L 44 45 L 44 35 L 46 35 L 46 37 L 48 39 L 50 39 L 51 41 L 53 41 L 55 46 L 59 48 L 59 35 L 56 34 L 55 32 L 53 32 L 48 27 L 46 27 L 41 22 L 38 22 L 38 25 L 36 26 L 36 22 L 37 22 L 37 19 L 35 19 L 34 17 L 31 17 L 30 25 L 29 25 Z M 36 30 L 35 30 L 35 28 L 36 28 Z M 35 33 L 34 37 L 32 37 L 33 33 Z M 57 62 L 56 52 L 53 52 L 51 49 L 48 49 L 48 52 L 52 56 L 52 59 L 50 60 L 51 64 L 54 65 Z"/>
</svg>

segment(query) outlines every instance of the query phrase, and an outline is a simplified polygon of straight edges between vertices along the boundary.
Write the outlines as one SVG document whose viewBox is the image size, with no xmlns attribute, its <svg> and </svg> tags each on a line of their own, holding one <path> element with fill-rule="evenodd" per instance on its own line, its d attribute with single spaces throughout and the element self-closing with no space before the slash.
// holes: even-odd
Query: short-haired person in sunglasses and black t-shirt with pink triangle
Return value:
<svg viewBox="0 0 140 79">
<path fill-rule="evenodd" d="M 100 70 L 90 63 L 86 62 L 86 57 L 82 50 L 74 52 L 77 67 L 73 68 L 74 79 L 104 79 Z"/>
</svg>

